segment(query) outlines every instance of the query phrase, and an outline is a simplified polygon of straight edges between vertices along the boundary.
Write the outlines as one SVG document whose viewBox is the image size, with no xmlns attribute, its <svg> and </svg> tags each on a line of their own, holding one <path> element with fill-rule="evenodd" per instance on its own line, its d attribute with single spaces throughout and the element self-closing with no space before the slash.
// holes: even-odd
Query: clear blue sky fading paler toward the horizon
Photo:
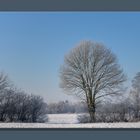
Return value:
<svg viewBox="0 0 140 140">
<path fill-rule="evenodd" d="M 71 100 L 59 88 L 59 68 L 86 39 L 112 49 L 130 84 L 140 71 L 139 12 L 1 12 L 0 71 L 48 102 Z"/>
</svg>

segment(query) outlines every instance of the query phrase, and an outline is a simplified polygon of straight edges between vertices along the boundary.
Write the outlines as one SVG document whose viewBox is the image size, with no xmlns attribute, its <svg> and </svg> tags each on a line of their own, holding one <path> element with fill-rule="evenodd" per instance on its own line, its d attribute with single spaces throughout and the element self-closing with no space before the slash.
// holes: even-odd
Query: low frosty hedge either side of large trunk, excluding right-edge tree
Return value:
<svg viewBox="0 0 140 140">
<path fill-rule="evenodd" d="M 96 109 L 96 122 L 137 122 L 140 121 L 140 108 L 137 108 L 136 101 L 127 98 L 119 103 L 104 103 Z M 139 103 L 140 104 L 140 103 Z M 80 123 L 89 123 L 90 116 L 78 115 Z"/>
</svg>

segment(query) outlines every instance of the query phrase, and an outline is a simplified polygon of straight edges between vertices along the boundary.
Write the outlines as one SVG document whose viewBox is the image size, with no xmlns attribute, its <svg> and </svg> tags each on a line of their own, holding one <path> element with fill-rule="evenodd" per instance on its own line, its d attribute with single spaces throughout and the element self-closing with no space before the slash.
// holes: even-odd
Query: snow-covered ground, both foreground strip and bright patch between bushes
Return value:
<svg viewBox="0 0 140 140">
<path fill-rule="evenodd" d="M 76 114 L 50 114 L 48 117 L 47 123 L 0 123 L 0 128 L 140 128 L 140 122 L 79 124 Z"/>
</svg>

